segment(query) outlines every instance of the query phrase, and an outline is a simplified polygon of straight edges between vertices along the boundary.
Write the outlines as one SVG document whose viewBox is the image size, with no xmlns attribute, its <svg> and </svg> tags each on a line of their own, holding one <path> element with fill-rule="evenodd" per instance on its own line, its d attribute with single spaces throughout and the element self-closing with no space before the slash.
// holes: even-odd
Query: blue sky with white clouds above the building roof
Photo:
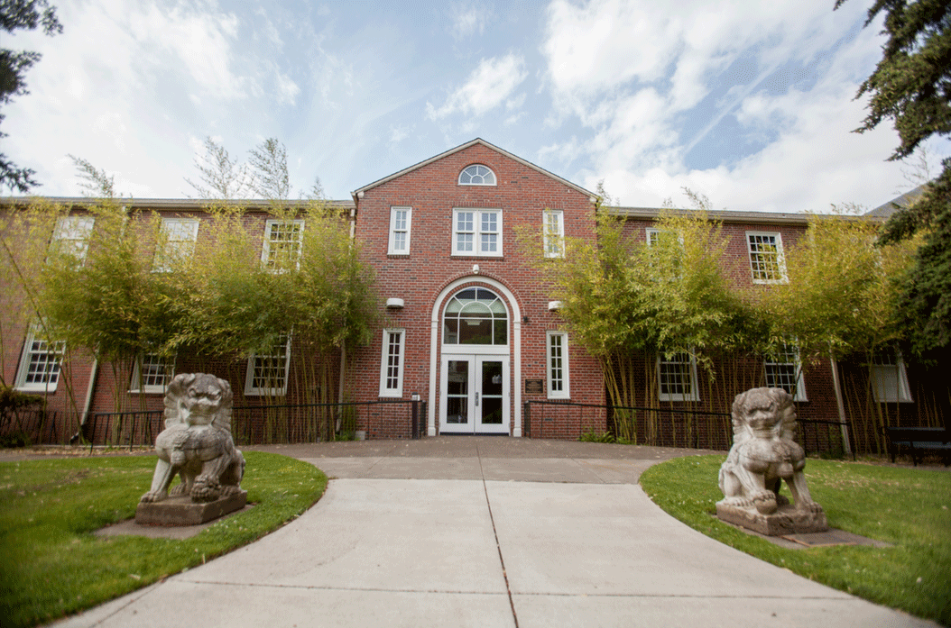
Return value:
<svg viewBox="0 0 951 628">
<path fill-rule="evenodd" d="M 890 122 L 851 132 L 884 41 L 865 0 L 52 3 L 63 34 L 0 42 L 43 55 L 0 150 L 44 196 L 81 196 L 71 155 L 196 198 L 206 138 L 238 161 L 277 138 L 295 196 L 338 200 L 476 137 L 639 207 L 871 209 L 922 173 L 886 161 Z"/>
</svg>

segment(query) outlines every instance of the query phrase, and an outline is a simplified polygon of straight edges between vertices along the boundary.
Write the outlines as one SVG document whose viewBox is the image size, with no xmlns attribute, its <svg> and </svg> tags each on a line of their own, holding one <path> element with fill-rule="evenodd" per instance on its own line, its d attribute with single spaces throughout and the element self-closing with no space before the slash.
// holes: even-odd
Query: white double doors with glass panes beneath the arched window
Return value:
<svg viewBox="0 0 951 628">
<path fill-rule="evenodd" d="M 509 433 L 509 356 L 442 356 L 441 433 Z"/>
</svg>

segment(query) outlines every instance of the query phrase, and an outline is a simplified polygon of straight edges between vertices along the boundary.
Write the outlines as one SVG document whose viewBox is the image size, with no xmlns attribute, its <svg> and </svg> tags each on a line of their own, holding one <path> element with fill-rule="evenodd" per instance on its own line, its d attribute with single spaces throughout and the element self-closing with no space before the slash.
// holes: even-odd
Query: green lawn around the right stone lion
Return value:
<svg viewBox="0 0 951 628">
<path fill-rule="evenodd" d="M 873 602 L 951 625 L 951 473 L 809 460 L 806 481 L 830 526 L 888 542 L 786 549 L 715 516 L 723 455 L 652 466 L 641 485 L 656 504 L 708 537 Z M 784 492 L 786 486 L 784 485 Z"/>
</svg>

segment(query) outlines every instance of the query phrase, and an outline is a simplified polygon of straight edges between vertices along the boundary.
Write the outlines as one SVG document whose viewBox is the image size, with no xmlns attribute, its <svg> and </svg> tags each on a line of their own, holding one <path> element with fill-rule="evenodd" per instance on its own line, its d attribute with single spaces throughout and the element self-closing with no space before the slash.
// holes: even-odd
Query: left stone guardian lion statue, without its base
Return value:
<svg viewBox="0 0 951 628">
<path fill-rule="evenodd" d="M 176 474 L 182 484 L 171 495 L 214 502 L 241 490 L 244 457 L 231 438 L 231 386 L 214 375 L 181 373 L 165 393 L 165 429 L 155 439 L 159 461 L 141 502 L 169 496 Z"/>
</svg>

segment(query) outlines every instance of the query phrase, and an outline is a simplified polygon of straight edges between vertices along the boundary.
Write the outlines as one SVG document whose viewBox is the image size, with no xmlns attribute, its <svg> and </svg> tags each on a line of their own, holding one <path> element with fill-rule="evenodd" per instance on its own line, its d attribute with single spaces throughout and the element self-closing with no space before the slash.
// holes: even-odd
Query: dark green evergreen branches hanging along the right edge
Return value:
<svg viewBox="0 0 951 628">
<path fill-rule="evenodd" d="M 844 0 L 837 0 L 838 8 Z M 888 41 L 882 61 L 859 88 L 871 98 L 857 132 L 891 119 L 901 145 L 890 160 L 911 155 L 933 135 L 951 134 L 951 3 L 948 0 L 875 0 L 868 26 L 884 12 Z M 897 212 L 880 242 L 924 234 L 904 286 L 904 311 L 912 349 L 920 354 L 951 348 L 951 158 L 921 200 Z"/>
</svg>

